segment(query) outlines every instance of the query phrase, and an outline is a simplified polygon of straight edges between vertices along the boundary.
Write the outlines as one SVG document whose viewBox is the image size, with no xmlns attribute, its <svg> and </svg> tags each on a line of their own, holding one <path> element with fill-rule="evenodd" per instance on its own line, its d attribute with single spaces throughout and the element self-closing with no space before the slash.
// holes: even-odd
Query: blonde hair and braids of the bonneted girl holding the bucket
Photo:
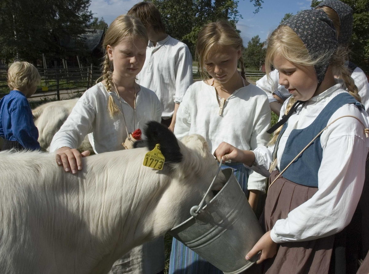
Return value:
<svg viewBox="0 0 369 274">
<path fill-rule="evenodd" d="M 354 96 L 356 100 L 359 102 L 361 101 L 358 88 L 354 80 L 350 77 L 348 69 L 345 67 L 345 60 L 347 59 L 347 50 L 345 48 L 338 48 L 333 56 L 331 56 L 329 51 L 322 51 L 320 55 L 310 56 L 306 46 L 296 32 L 290 27 L 279 25 L 279 27 L 268 37 L 265 70 L 269 81 L 271 81 L 269 73 L 273 66 L 273 60 L 277 55 L 283 56 L 289 62 L 300 66 L 314 66 L 316 64 L 329 63 L 332 67 L 333 74 L 342 78 L 349 93 Z M 289 99 L 285 114 L 289 112 L 295 102 L 296 99 L 293 97 Z M 276 143 L 281 129 L 282 126 L 274 132 L 269 144 Z"/>
</svg>

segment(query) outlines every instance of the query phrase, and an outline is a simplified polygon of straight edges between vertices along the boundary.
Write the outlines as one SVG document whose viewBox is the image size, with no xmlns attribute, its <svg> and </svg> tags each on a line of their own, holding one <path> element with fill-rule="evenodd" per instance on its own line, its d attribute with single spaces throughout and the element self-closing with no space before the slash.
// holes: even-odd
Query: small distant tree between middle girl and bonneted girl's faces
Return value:
<svg viewBox="0 0 369 274">
<path fill-rule="evenodd" d="M 263 47 L 264 43 L 260 42 L 259 35 L 251 38 L 251 41 L 247 44 L 247 48 L 244 50 L 245 67 L 259 70 L 260 66 L 264 63 L 266 55 L 266 49 Z"/>
</svg>

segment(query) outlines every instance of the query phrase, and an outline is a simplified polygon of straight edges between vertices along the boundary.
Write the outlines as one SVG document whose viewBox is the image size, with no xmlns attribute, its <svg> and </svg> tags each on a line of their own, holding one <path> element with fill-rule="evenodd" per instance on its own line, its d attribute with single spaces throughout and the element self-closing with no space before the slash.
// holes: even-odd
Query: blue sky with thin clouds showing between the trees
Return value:
<svg viewBox="0 0 369 274">
<path fill-rule="evenodd" d="M 118 15 L 125 14 L 136 3 L 142 0 L 92 0 L 90 9 L 94 17 L 104 17 L 110 24 Z M 239 0 L 240 18 L 237 28 L 241 31 L 244 45 L 255 35 L 265 41 L 282 20 L 284 14 L 296 14 L 300 10 L 310 9 L 311 0 L 264 0 L 259 13 L 254 14 L 255 7 L 249 0 Z"/>
</svg>

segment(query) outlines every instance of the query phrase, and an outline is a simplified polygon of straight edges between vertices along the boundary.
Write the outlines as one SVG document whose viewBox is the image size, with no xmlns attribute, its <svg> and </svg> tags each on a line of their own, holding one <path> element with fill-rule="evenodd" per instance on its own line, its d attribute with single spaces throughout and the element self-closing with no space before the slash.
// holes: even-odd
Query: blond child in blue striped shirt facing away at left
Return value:
<svg viewBox="0 0 369 274">
<path fill-rule="evenodd" d="M 28 62 L 15 61 L 8 69 L 10 93 L 0 100 L 2 150 L 39 150 L 38 129 L 33 122 L 27 98 L 36 92 L 41 80 L 38 70 Z"/>
</svg>

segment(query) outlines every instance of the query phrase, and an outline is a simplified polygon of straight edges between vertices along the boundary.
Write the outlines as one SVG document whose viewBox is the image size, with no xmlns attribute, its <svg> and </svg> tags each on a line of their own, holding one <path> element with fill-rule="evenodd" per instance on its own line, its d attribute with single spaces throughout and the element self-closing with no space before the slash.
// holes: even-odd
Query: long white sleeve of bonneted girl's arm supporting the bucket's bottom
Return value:
<svg viewBox="0 0 369 274">
<path fill-rule="evenodd" d="M 330 121 L 334 118 L 337 117 L 332 116 Z M 286 219 L 276 222 L 270 232 L 276 243 L 333 235 L 344 229 L 354 215 L 363 188 L 368 153 L 363 126 L 356 119 L 345 117 L 323 134 L 318 191 L 292 210 Z"/>
</svg>

